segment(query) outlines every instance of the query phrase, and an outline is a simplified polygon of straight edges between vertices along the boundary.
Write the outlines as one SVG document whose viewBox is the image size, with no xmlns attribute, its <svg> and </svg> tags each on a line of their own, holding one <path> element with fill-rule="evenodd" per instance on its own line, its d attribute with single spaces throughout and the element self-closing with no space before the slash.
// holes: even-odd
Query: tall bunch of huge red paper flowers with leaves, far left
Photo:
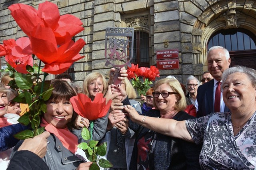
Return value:
<svg viewBox="0 0 256 170">
<path fill-rule="evenodd" d="M 12 88 L 20 93 L 15 102 L 29 105 L 29 111 L 18 120 L 24 125 L 31 124 L 32 130 L 18 133 L 18 139 L 26 139 L 44 131 L 39 128 L 40 115 L 46 112 L 46 104 L 52 89 L 50 81 L 45 81 L 48 73 L 61 74 L 75 61 L 82 59 L 79 52 L 86 44 L 83 39 L 74 42 L 72 37 L 84 30 L 82 22 L 70 14 L 60 16 L 58 6 L 51 2 L 39 4 L 38 10 L 24 4 L 9 7 L 11 15 L 28 37 L 4 40 L 0 45 L 0 56 L 8 63 Z M 34 64 L 35 57 L 39 65 Z M 44 63 L 43 81 L 34 85 L 33 80 L 40 75 Z M 37 73 L 36 73 L 37 72 Z"/>
</svg>

